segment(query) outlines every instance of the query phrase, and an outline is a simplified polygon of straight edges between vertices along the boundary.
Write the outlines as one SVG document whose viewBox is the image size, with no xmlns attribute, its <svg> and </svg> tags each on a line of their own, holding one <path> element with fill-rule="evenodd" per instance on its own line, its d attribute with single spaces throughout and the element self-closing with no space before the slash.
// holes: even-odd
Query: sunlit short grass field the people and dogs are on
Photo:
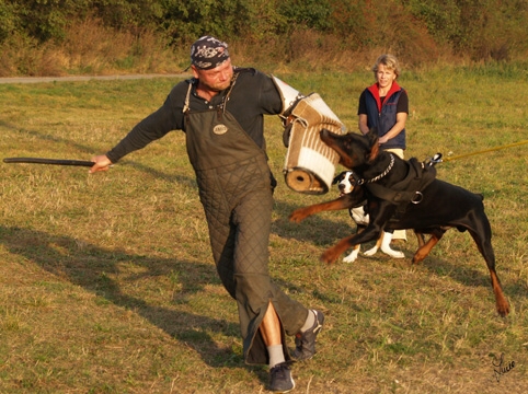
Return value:
<svg viewBox="0 0 528 394">
<path fill-rule="evenodd" d="M 277 76 L 320 93 L 357 130 L 357 97 L 370 72 Z M 176 82 L 0 85 L 1 157 L 90 160 L 161 105 Z M 528 139 L 521 68 L 409 72 L 400 83 L 411 103 L 408 158 Z M 291 297 L 326 315 L 317 357 L 294 366 L 295 392 L 528 392 L 528 144 L 437 165 L 439 178 L 485 196 L 512 309 L 501 318 L 467 233 L 448 231 L 420 266 L 410 265 L 411 233 L 398 245 L 404 260 L 378 254 L 320 263 L 355 229 L 345 211 L 288 221 L 294 209 L 336 190 L 290 190 L 280 176 L 280 124 L 266 121 L 279 179 L 269 268 Z M 104 174 L 0 166 L 0 393 L 266 392 L 266 368 L 242 359 L 237 308 L 215 271 L 183 134 Z"/>
</svg>

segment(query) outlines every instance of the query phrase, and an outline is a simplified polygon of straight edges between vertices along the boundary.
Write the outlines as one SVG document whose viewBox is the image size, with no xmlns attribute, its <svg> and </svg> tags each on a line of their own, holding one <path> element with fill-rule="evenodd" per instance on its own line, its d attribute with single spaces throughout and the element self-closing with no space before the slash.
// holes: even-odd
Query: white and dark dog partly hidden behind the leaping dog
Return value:
<svg viewBox="0 0 528 394">
<path fill-rule="evenodd" d="M 333 184 L 337 184 L 340 189 L 340 195 L 345 195 L 352 193 L 354 186 L 356 184 L 354 179 L 354 173 L 352 171 L 343 171 L 336 177 L 334 177 Z M 368 225 L 368 213 L 365 211 L 365 205 L 351 208 L 349 210 L 351 218 L 357 225 L 357 231 L 363 231 Z M 393 257 L 393 258 L 403 258 L 405 255 L 402 252 L 394 251 L 390 247 L 390 242 L 392 240 L 392 233 L 382 232 L 379 240 L 376 242 L 376 245 L 365 252 L 365 256 L 374 256 L 378 250 L 381 250 L 384 254 Z M 359 255 L 359 245 L 354 246 L 352 253 L 343 258 L 345 263 L 354 263 Z"/>
</svg>

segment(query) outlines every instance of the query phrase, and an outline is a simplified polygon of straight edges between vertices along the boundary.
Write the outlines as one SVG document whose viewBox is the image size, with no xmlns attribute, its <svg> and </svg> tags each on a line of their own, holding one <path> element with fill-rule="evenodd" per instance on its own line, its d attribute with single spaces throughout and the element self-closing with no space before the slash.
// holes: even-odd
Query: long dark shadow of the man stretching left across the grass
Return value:
<svg viewBox="0 0 528 394">
<path fill-rule="evenodd" d="M 267 372 L 262 368 L 245 366 L 242 355 L 219 348 L 206 332 L 207 328 L 238 338 L 238 323 L 151 305 L 146 299 L 124 293 L 119 283 L 108 275 L 118 274 L 119 263 L 126 263 L 142 268 L 139 274 L 127 274 L 126 279 L 123 279 L 127 282 L 142 277 L 169 277 L 182 287 L 173 299 L 174 304 L 181 304 L 186 303 L 190 296 L 204 291 L 206 285 L 221 285 L 213 264 L 130 255 L 80 243 L 69 236 L 56 236 L 18 227 L 0 225 L 0 244 L 10 253 L 23 256 L 57 277 L 66 278 L 115 305 L 133 310 L 167 334 L 191 346 L 207 364 L 248 368 L 261 380 L 267 380 Z"/>
</svg>

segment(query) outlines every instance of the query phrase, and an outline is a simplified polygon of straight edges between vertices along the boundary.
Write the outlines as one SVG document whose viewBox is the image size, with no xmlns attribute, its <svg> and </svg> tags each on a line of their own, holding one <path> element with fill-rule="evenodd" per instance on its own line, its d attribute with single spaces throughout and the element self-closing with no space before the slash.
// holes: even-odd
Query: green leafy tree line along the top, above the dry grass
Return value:
<svg viewBox="0 0 528 394">
<path fill-rule="evenodd" d="M 203 34 L 265 44 L 286 60 L 307 33 L 310 47 L 331 42 L 334 51 L 390 47 L 416 58 L 449 51 L 472 60 L 528 51 L 526 0 L 4 0 L 0 45 L 60 44 L 87 20 L 137 37 L 148 32 L 170 47 Z"/>
</svg>

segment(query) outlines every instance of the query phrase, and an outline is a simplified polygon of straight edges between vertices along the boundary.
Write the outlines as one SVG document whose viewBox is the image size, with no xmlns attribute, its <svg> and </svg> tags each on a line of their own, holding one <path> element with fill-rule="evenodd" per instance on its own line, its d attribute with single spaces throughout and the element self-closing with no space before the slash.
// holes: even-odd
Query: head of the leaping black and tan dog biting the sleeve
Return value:
<svg viewBox="0 0 528 394">
<path fill-rule="evenodd" d="M 370 164 L 378 157 L 378 130 L 371 129 L 365 136 L 354 132 L 337 135 L 322 129 L 321 140 L 340 155 L 340 163 L 349 170 Z"/>
</svg>

